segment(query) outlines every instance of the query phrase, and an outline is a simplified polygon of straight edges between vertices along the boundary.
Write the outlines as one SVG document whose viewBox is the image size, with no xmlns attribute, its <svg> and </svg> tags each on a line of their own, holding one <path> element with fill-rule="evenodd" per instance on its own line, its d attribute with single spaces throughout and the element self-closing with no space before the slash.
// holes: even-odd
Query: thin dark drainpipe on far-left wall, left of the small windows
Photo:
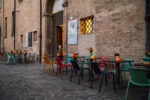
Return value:
<svg viewBox="0 0 150 100">
<path fill-rule="evenodd" d="M 14 0 L 14 50 L 16 49 L 16 0 Z"/>
</svg>

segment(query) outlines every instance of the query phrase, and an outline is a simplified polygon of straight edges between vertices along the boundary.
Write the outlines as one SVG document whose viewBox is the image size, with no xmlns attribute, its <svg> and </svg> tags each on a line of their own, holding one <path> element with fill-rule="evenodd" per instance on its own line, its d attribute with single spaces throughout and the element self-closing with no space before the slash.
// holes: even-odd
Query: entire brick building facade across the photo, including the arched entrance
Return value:
<svg viewBox="0 0 150 100">
<path fill-rule="evenodd" d="M 16 49 L 39 53 L 40 0 L 21 1 L 16 0 Z M 62 4 L 63 8 L 60 7 Z M 145 4 L 146 0 L 42 0 L 42 55 L 56 55 L 58 49 L 62 49 L 64 54 L 78 52 L 88 55 L 87 48 L 92 47 L 96 56 L 113 57 L 114 53 L 120 53 L 123 58 L 140 60 L 145 56 L 148 45 Z M 7 0 L 3 8 L 2 22 L 5 23 L 7 17 L 9 24 L 7 38 L 1 39 L 4 40 L 1 47 L 8 51 L 14 49 L 14 37 L 11 36 L 14 1 Z M 94 18 L 93 31 L 81 34 L 81 21 L 89 16 Z M 68 44 L 68 22 L 71 20 L 77 20 L 76 44 Z M 4 34 L 5 28 L 2 30 Z M 25 34 L 30 32 L 37 32 L 37 41 L 33 41 L 32 37 L 32 47 L 27 47 L 24 46 Z"/>
</svg>

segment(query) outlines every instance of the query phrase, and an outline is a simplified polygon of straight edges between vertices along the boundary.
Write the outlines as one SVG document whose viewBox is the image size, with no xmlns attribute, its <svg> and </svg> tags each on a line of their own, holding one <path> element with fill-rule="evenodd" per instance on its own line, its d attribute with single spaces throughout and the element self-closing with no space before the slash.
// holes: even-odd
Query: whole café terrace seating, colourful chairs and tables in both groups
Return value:
<svg viewBox="0 0 150 100">
<path fill-rule="evenodd" d="M 109 90 L 123 96 L 124 100 L 150 100 L 149 57 L 142 57 L 141 62 L 135 63 L 135 59 L 122 58 L 119 53 L 113 57 L 97 57 L 92 48 L 88 50 L 87 56 L 79 53 L 62 55 L 60 51 L 57 56 L 43 56 L 41 73 L 97 89 L 100 94 Z M 8 65 L 38 61 L 38 55 L 26 50 L 9 51 L 6 55 L 1 54 L 1 58 L 5 58 Z"/>
</svg>

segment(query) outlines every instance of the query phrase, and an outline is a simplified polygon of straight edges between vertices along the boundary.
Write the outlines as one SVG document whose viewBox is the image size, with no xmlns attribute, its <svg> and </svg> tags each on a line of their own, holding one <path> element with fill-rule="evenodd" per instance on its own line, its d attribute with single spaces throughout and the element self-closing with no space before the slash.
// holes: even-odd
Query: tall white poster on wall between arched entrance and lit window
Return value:
<svg viewBox="0 0 150 100">
<path fill-rule="evenodd" d="M 68 44 L 77 44 L 77 20 L 68 22 Z"/>
</svg>

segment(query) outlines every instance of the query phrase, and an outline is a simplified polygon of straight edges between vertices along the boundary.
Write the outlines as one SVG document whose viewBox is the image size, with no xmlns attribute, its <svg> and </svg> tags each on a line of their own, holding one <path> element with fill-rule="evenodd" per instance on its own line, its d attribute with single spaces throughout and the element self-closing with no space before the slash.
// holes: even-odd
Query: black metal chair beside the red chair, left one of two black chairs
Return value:
<svg viewBox="0 0 150 100">
<path fill-rule="evenodd" d="M 89 71 L 89 68 L 83 68 L 83 65 L 79 66 L 79 64 L 77 63 L 77 60 L 71 60 L 71 64 L 72 64 L 72 72 L 71 72 L 71 76 L 70 76 L 70 82 L 72 81 L 72 77 L 73 77 L 73 73 L 77 73 L 77 72 L 80 72 L 80 75 L 79 75 L 79 81 L 78 83 L 80 84 L 80 78 L 82 76 L 82 79 L 83 79 L 83 72 L 84 70 L 88 70 Z"/>
</svg>

